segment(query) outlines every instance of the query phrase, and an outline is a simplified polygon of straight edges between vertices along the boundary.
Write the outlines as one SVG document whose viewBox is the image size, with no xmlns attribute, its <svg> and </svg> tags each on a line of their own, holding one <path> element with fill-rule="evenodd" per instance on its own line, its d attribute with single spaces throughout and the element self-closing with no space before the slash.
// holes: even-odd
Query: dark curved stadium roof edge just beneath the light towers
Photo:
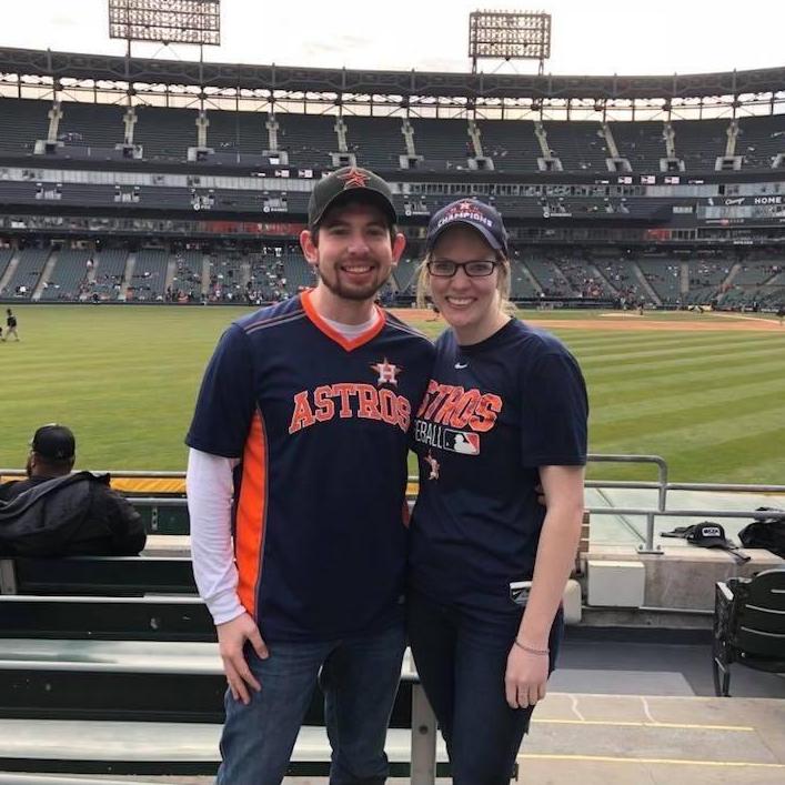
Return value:
<svg viewBox="0 0 785 785">
<path fill-rule="evenodd" d="M 785 67 L 660 77 L 527 76 L 241 66 L 0 49 L 0 74 L 224 89 L 465 98 L 701 99 L 785 91 Z"/>
</svg>

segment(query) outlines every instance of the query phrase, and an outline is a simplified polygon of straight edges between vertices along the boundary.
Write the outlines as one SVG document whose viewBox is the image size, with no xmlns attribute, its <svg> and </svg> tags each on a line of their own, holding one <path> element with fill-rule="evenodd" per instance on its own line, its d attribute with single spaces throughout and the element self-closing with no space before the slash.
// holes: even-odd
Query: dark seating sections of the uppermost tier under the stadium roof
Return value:
<svg viewBox="0 0 785 785">
<path fill-rule="evenodd" d="M 47 137 L 51 105 L 47 100 L 1 99 L 0 152 L 31 155 L 36 141 Z M 139 104 L 134 110 L 134 142 L 142 147 L 144 159 L 184 161 L 188 148 L 197 145 L 195 109 Z M 105 159 L 123 141 L 124 105 L 63 100 L 61 111 L 59 155 Z M 332 165 L 330 154 L 339 151 L 336 115 L 279 112 L 275 117 L 280 125 L 279 149 L 289 152 L 292 165 Z M 208 107 L 207 118 L 208 147 L 224 154 L 222 161 L 228 153 L 260 159 L 269 148 L 266 112 Z M 402 118 L 346 114 L 344 122 L 348 152 L 354 153 L 361 164 L 385 171 L 399 168 L 399 158 L 406 151 Z M 474 155 L 474 150 L 465 119 L 412 118 L 411 122 L 415 151 L 424 157 L 424 169 L 466 168 L 466 159 Z M 714 171 L 716 159 L 725 154 L 729 122 L 674 118 L 676 157 L 684 160 L 687 171 Z M 773 158 L 785 153 L 782 117 L 743 117 L 738 122 L 736 154 L 742 157 L 743 167 L 771 169 Z M 605 160 L 610 153 L 598 122 L 546 120 L 543 128 L 549 147 L 564 170 L 607 172 Z M 612 121 L 610 128 L 618 154 L 630 161 L 634 171 L 660 171 L 660 159 L 666 154 L 663 122 Z M 483 153 L 493 160 L 497 171 L 537 171 L 542 151 L 532 121 L 480 119 L 477 129 Z"/>
</svg>

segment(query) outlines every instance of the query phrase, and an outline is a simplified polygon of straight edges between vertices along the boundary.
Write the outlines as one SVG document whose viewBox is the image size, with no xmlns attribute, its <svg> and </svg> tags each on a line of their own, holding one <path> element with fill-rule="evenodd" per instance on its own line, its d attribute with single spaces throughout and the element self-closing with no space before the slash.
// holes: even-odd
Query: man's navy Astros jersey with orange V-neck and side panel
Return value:
<svg viewBox="0 0 785 785">
<path fill-rule="evenodd" d="M 309 293 L 232 324 L 187 443 L 240 457 L 238 593 L 266 640 L 329 640 L 402 612 L 411 422 L 433 362 L 380 310 L 345 340 Z"/>
</svg>

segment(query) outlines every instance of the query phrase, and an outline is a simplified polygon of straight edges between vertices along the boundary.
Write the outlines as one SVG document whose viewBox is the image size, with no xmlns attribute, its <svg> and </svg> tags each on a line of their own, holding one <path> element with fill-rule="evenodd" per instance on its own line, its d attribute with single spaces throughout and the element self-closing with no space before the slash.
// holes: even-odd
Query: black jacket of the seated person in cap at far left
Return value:
<svg viewBox="0 0 785 785">
<path fill-rule="evenodd" d="M 135 556 L 145 540 L 108 474 L 77 472 L 0 501 L 0 556 Z"/>
</svg>

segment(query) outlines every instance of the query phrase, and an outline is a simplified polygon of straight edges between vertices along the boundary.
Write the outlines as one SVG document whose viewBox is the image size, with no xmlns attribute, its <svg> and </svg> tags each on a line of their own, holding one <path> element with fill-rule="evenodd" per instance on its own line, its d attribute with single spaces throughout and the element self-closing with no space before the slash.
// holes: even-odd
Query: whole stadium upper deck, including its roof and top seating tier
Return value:
<svg viewBox="0 0 785 785">
<path fill-rule="evenodd" d="M 125 145 L 127 157 L 184 161 L 190 148 L 204 164 L 529 174 L 785 167 L 785 68 L 554 77 L 0 49 L 0 94 L 17 99 L 0 118 L 11 154 L 38 143 L 105 159 Z M 33 97 L 43 100 L 21 100 Z"/>
</svg>

